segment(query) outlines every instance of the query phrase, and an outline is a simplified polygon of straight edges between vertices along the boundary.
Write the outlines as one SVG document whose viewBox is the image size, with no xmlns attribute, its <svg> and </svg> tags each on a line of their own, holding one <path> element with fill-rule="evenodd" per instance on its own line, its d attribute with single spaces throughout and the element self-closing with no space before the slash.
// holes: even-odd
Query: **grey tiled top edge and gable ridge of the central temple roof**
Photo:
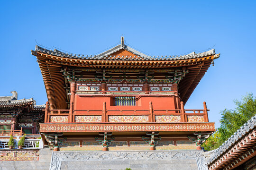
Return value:
<svg viewBox="0 0 256 170">
<path fill-rule="evenodd" d="M 127 50 L 138 57 L 134 58 L 134 56 L 119 56 L 118 58 L 116 58 L 116 56 L 111 56 L 111 54 L 121 49 Z M 57 56 L 57 57 L 64 57 L 64 58 L 71 58 L 71 59 L 92 59 L 92 60 L 109 60 L 109 59 L 110 60 L 119 60 L 119 59 L 121 60 L 182 60 L 182 59 L 195 59 L 195 58 L 206 57 L 210 55 L 215 55 L 214 59 L 219 58 L 219 54 L 216 54 L 214 49 L 201 52 L 201 53 L 192 52 L 186 55 L 180 55 L 176 57 L 166 56 L 166 55 L 165 56 L 148 56 L 128 47 L 127 45 L 122 46 L 120 44 L 98 55 L 86 55 L 86 56 L 82 55 L 81 56 L 81 54 L 64 53 L 56 49 L 48 50 L 46 48 L 42 48 L 36 45 L 35 51 L 31 50 L 31 54 L 37 56 L 37 52 L 52 55 L 52 56 Z"/>
</svg>

